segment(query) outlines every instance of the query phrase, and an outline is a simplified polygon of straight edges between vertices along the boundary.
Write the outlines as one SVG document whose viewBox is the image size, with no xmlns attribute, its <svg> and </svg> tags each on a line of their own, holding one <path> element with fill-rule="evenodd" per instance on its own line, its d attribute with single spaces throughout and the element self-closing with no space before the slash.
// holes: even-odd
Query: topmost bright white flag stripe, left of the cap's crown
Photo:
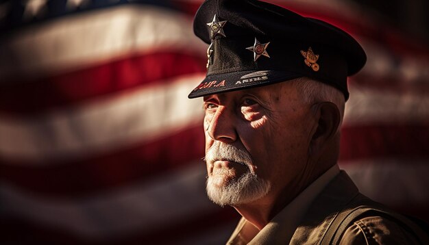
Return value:
<svg viewBox="0 0 429 245">
<path fill-rule="evenodd" d="M 157 49 L 205 53 L 191 19 L 148 5 L 122 5 L 18 31 L 0 45 L 1 82 L 57 74 Z M 13 59 L 12 59 L 12 58 Z"/>
</svg>

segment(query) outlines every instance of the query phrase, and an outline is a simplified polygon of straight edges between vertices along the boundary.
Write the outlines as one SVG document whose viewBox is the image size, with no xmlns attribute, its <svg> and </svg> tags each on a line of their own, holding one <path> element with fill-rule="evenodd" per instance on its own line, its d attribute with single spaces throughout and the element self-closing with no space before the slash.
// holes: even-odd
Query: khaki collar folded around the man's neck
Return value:
<svg viewBox="0 0 429 245">
<path fill-rule="evenodd" d="M 334 173 L 336 174 L 337 172 L 338 166 L 336 166 L 336 172 Z M 336 213 L 358 194 L 358 188 L 344 171 L 341 170 L 336 176 L 335 174 L 328 177 L 326 182 L 318 182 L 319 179 L 317 179 L 309 186 L 311 188 L 315 185 L 321 185 L 322 188 L 323 186 L 325 188 L 317 190 L 316 193 L 319 194 L 312 199 L 312 202 L 310 201 L 309 206 L 306 206 L 308 207 L 306 214 L 299 217 L 302 222 L 297 226 L 295 233 L 292 231 L 288 234 L 287 232 L 288 228 L 289 231 L 291 228 L 287 227 L 287 225 L 285 226 L 288 223 L 285 220 L 289 218 L 290 212 L 285 211 L 285 209 L 288 209 L 288 207 L 285 207 L 249 244 L 284 244 L 285 241 L 289 240 L 291 240 L 291 244 L 316 244 L 323 237 L 325 229 Z M 304 195 L 306 190 L 303 192 Z M 306 209 L 306 207 L 297 207 L 297 209 Z M 244 235 L 243 231 L 248 225 L 249 223 L 242 218 L 227 244 L 246 244 L 247 242 L 243 240 L 242 235 Z M 295 226 L 292 229 L 295 229 Z M 322 230 L 319 229 L 319 226 L 321 226 Z M 292 238 L 290 238 L 291 236 Z"/>
</svg>

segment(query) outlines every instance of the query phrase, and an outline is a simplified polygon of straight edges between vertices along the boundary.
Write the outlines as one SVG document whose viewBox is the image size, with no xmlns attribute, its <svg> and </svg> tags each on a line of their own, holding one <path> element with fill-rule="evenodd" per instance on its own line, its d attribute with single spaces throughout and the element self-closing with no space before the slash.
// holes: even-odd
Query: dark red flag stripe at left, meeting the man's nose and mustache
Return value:
<svg viewBox="0 0 429 245">
<path fill-rule="evenodd" d="M 202 126 L 115 153 L 75 162 L 0 164 L 0 179 L 31 192 L 55 196 L 86 196 L 143 181 L 204 157 Z"/>
</svg>

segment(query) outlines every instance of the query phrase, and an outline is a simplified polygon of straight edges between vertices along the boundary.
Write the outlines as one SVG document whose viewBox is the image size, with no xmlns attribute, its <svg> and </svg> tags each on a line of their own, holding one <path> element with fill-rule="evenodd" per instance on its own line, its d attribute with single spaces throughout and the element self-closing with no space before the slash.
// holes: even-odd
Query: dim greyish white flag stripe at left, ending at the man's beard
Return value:
<svg viewBox="0 0 429 245">
<path fill-rule="evenodd" d="M 205 176 L 206 168 L 198 162 L 157 175 L 145 184 L 73 200 L 36 196 L 0 183 L 0 212 L 88 238 L 149 232 L 172 220 L 186 221 L 214 209 L 206 196 Z"/>
</svg>

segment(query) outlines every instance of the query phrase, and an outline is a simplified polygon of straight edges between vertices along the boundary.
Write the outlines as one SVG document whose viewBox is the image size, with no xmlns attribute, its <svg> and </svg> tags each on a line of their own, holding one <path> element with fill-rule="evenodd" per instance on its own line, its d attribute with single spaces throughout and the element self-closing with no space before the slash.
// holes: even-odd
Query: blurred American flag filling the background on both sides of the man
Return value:
<svg viewBox="0 0 429 245">
<path fill-rule="evenodd" d="M 341 168 L 429 220 L 429 4 L 271 2 L 363 44 Z M 227 240 L 239 216 L 206 198 L 201 100 L 187 99 L 206 72 L 200 3 L 0 1 L 0 244 Z"/>
</svg>

